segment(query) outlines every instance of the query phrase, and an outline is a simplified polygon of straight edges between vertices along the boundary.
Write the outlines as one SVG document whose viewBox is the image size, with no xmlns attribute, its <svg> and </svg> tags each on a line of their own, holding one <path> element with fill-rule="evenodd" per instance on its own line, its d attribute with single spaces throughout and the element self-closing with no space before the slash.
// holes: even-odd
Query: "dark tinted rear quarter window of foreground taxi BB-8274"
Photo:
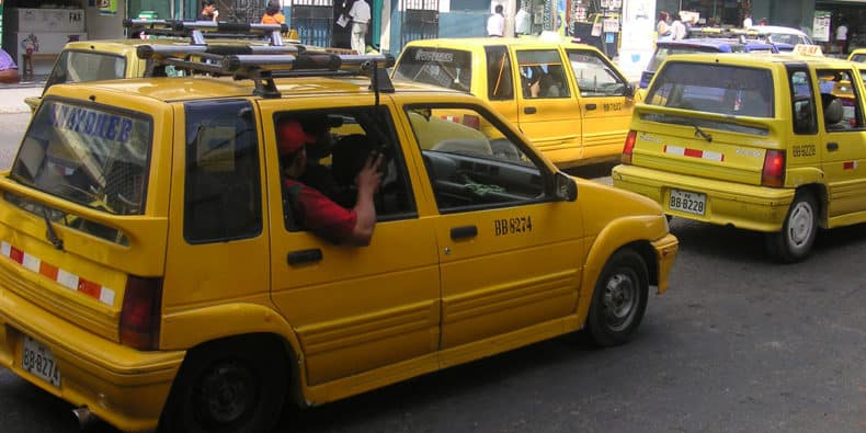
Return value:
<svg viewBox="0 0 866 433">
<path fill-rule="evenodd" d="M 189 102 L 183 235 L 190 243 L 262 231 L 253 111 L 248 101 Z"/>
</svg>

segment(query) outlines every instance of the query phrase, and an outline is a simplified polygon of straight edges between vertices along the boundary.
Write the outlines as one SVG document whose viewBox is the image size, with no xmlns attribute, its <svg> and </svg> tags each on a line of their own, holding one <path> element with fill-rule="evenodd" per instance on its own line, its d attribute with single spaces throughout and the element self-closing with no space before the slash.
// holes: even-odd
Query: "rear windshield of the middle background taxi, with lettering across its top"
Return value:
<svg viewBox="0 0 866 433">
<path fill-rule="evenodd" d="M 469 91 L 472 54 L 460 49 L 409 47 L 403 50 L 395 79 Z"/>
</svg>

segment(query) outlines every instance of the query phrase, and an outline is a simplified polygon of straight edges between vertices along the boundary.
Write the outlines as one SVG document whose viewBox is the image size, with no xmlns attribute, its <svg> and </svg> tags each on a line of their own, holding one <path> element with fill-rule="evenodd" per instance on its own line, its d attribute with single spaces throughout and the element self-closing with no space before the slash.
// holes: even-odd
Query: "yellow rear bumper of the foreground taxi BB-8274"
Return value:
<svg viewBox="0 0 866 433">
<path fill-rule="evenodd" d="M 22 369 L 24 334 L 54 353 L 59 388 Z M 183 356 L 122 346 L 0 287 L 0 365 L 123 431 L 156 430 Z"/>
</svg>

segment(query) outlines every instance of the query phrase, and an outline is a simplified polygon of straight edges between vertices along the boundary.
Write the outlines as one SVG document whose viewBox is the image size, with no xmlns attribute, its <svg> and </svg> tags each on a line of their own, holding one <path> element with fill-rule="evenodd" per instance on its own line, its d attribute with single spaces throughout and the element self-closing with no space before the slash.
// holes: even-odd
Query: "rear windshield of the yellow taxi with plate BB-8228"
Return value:
<svg viewBox="0 0 866 433">
<path fill-rule="evenodd" d="M 774 117 L 768 70 L 669 62 L 647 93 L 650 105 L 738 116 Z"/>
</svg>

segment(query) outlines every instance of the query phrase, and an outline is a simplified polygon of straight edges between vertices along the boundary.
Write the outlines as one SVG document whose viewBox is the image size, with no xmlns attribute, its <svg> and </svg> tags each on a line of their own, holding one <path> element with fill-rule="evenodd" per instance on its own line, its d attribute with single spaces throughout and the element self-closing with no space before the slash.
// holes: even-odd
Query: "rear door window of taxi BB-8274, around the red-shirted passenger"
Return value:
<svg viewBox="0 0 866 433">
<path fill-rule="evenodd" d="M 287 123 L 297 123 L 310 140 L 305 145 L 307 162 L 299 175 L 293 175 L 294 181 L 351 209 L 357 197 L 355 176 L 371 155 L 380 152 L 384 159 L 381 183 L 375 196 L 377 220 L 417 217 L 406 159 L 386 107 L 379 107 L 378 112 L 367 106 L 274 114 L 276 128 Z M 278 133 L 272 134 L 276 137 Z M 276 144 L 276 138 L 271 143 Z M 278 149 L 285 226 L 289 231 L 304 231 L 308 228 L 298 213 L 306 203 L 298 202 L 299 197 L 286 182 L 287 168 L 295 155 L 286 155 L 283 150 Z"/>
</svg>

